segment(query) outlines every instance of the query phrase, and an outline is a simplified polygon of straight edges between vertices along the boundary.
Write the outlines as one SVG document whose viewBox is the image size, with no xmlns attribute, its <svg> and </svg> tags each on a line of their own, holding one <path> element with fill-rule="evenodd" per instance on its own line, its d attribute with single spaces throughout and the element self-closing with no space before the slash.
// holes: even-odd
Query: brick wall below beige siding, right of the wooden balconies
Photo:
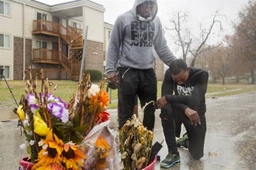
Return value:
<svg viewBox="0 0 256 170">
<path fill-rule="evenodd" d="M 97 54 L 93 54 L 93 53 L 97 53 Z M 103 73 L 104 72 L 103 61 L 104 61 L 103 43 L 95 42 L 95 41 L 87 41 L 85 68 L 97 69 Z"/>
</svg>

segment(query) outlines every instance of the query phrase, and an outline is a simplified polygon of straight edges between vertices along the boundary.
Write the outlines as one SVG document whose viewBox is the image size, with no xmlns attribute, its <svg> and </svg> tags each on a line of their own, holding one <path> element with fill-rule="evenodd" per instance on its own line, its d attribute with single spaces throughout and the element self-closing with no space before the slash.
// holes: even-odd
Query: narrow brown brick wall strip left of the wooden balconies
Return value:
<svg viewBox="0 0 256 170">
<path fill-rule="evenodd" d="M 13 37 L 13 80 L 23 79 L 23 38 Z"/>
</svg>

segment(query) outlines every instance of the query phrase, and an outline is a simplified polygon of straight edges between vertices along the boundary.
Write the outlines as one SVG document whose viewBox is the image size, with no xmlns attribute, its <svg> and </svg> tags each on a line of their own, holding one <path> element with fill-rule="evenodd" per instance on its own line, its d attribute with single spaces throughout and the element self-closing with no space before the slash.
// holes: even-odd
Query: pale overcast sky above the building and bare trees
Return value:
<svg viewBox="0 0 256 170">
<path fill-rule="evenodd" d="M 70 0 L 37 0 L 42 3 L 49 5 L 70 2 Z M 91 0 L 93 2 L 99 3 L 104 6 L 104 21 L 114 24 L 115 19 L 118 15 L 130 10 L 133 7 L 134 0 Z M 204 28 L 208 28 L 212 16 L 215 14 L 216 10 L 219 10 L 223 17 L 219 17 L 222 21 L 223 31 L 219 32 L 218 26 L 216 26 L 211 38 L 209 39 L 209 44 L 214 44 L 220 41 L 220 39 L 226 34 L 232 34 L 232 22 L 238 21 L 238 12 L 245 6 L 248 0 L 240 1 L 170 1 L 170 0 L 158 0 L 158 16 L 162 21 L 163 27 L 168 27 L 168 19 L 174 12 L 184 11 L 188 13 L 188 20 L 186 27 L 196 35 L 199 30 L 199 22 L 203 23 Z M 192 29 L 191 29 L 192 28 Z M 173 41 L 170 40 L 169 31 L 166 32 L 166 39 L 169 46 L 172 46 L 172 50 L 176 51 Z"/>
</svg>

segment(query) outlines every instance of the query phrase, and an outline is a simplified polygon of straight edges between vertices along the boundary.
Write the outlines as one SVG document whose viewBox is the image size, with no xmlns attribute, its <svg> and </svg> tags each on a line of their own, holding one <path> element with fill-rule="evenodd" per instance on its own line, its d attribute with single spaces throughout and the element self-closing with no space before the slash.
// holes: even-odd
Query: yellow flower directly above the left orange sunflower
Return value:
<svg viewBox="0 0 256 170">
<path fill-rule="evenodd" d="M 47 124 L 39 116 L 34 116 L 34 132 L 40 136 L 46 136 L 49 133 Z"/>
</svg>

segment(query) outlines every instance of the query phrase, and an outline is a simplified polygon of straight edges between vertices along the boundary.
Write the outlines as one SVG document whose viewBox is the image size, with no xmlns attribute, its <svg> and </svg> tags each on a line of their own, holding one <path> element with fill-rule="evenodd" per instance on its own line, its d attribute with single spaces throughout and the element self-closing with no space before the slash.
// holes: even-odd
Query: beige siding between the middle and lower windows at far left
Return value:
<svg viewBox="0 0 256 170">
<path fill-rule="evenodd" d="M 13 36 L 11 36 L 11 48 L 0 47 L 0 65 L 10 66 L 10 79 L 13 79 Z"/>
</svg>

